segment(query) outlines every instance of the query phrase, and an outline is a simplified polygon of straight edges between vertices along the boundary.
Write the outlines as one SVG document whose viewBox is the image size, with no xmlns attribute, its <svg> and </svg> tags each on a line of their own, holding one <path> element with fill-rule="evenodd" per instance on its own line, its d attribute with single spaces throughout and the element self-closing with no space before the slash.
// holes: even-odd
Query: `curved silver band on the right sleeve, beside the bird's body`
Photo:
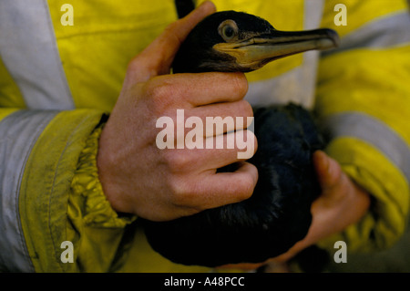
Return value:
<svg viewBox="0 0 410 291">
<path fill-rule="evenodd" d="M 374 145 L 403 171 L 410 182 L 410 148 L 395 131 L 382 121 L 359 112 L 333 115 L 323 120 L 323 132 L 335 137 L 354 137 Z"/>
</svg>

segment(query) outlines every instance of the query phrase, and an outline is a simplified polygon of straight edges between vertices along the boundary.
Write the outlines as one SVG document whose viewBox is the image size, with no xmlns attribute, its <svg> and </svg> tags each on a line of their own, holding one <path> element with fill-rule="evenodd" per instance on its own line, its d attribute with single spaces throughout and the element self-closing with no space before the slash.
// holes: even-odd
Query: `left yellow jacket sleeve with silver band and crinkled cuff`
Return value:
<svg viewBox="0 0 410 291">
<path fill-rule="evenodd" d="M 163 258 L 135 215 L 111 208 L 97 175 L 103 112 L 3 108 L 0 119 L 1 271 L 209 271 Z"/>
</svg>

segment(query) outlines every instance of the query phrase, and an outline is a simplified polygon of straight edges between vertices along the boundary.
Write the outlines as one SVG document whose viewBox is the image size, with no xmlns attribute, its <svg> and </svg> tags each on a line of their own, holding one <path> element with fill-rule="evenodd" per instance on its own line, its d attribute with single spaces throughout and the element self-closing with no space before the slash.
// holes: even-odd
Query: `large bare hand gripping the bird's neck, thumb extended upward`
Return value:
<svg viewBox="0 0 410 291">
<path fill-rule="evenodd" d="M 156 138 L 160 117 L 177 124 L 177 109 L 185 119 L 253 116 L 243 100 L 248 82 L 241 73 L 169 75 L 180 43 L 202 18 L 215 11 L 206 2 L 189 16 L 169 25 L 128 65 L 118 102 L 105 125 L 97 154 L 99 179 L 114 210 L 153 221 L 166 221 L 201 210 L 237 203 L 251 196 L 257 169 L 237 158 L 239 149 L 163 149 Z M 235 130 L 244 130 L 247 125 Z M 225 133 L 228 129 L 225 129 Z M 232 130 L 232 129 L 229 129 Z M 187 130 L 189 131 L 189 130 Z M 248 138 L 256 138 L 248 130 Z M 186 132 L 185 132 L 186 133 Z M 175 136 L 177 140 L 178 132 Z M 214 138 L 208 137 L 206 138 Z M 252 153 L 254 153 L 252 151 Z M 234 172 L 217 169 L 239 162 Z"/>
</svg>

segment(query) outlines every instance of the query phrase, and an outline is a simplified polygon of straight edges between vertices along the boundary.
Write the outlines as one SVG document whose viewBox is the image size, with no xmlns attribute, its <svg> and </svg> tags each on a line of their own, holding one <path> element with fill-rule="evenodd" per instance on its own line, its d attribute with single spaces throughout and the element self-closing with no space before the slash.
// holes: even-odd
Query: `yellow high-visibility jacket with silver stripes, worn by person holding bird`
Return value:
<svg viewBox="0 0 410 291">
<path fill-rule="evenodd" d="M 138 218 L 111 209 L 97 176 L 97 139 L 128 61 L 177 19 L 174 1 L 66 3 L 0 2 L 0 270 L 205 271 L 152 251 Z M 292 100 L 314 109 L 332 137 L 326 151 L 372 194 L 369 213 L 321 246 L 394 244 L 409 206 L 406 1 L 214 3 L 278 29 L 326 26 L 342 36 L 331 52 L 286 57 L 248 74 L 246 98 L 253 105 Z M 345 5 L 346 26 L 335 25 L 338 3 Z"/>
</svg>

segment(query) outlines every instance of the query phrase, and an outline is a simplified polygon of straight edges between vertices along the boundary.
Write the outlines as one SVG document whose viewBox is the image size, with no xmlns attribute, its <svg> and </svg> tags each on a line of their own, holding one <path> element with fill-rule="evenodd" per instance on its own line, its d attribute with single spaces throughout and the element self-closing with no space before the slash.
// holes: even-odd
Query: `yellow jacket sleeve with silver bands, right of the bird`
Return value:
<svg viewBox="0 0 410 291">
<path fill-rule="evenodd" d="M 347 26 L 335 26 L 326 1 L 323 26 L 341 46 L 319 65 L 315 110 L 326 151 L 372 196 L 370 212 L 342 234 L 352 251 L 387 248 L 403 234 L 410 179 L 410 16 L 406 1 L 344 1 Z M 354 207 L 354 205 L 352 205 Z"/>
</svg>

